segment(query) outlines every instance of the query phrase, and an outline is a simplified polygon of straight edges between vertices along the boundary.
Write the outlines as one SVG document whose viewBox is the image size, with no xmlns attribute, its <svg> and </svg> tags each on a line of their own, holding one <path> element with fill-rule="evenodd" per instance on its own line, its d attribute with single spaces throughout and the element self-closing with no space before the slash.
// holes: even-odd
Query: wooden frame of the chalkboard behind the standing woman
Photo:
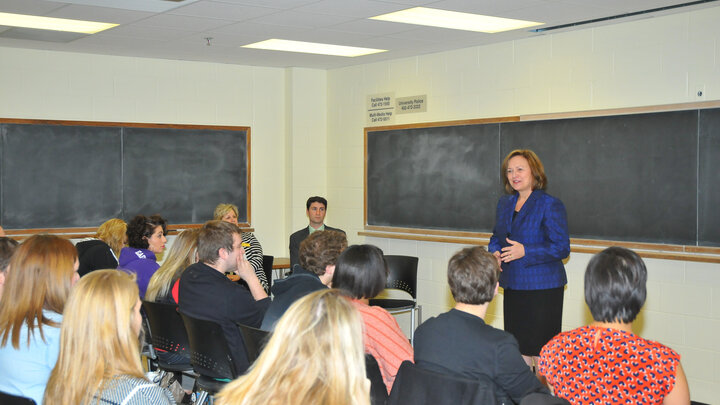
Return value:
<svg viewBox="0 0 720 405">
<path fill-rule="evenodd" d="M 684 111 L 684 110 L 703 110 L 710 108 L 720 107 L 720 101 L 708 101 L 708 102 L 692 102 L 692 103 L 678 103 L 678 104 L 667 104 L 657 106 L 642 106 L 632 108 L 616 108 L 616 109 L 604 109 L 604 110 L 591 110 L 591 111 L 574 111 L 564 113 L 550 113 L 550 114 L 533 114 L 533 115 L 520 115 L 520 116 L 509 116 L 509 117 L 498 117 L 498 118 L 484 118 L 484 119 L 470 119 L 470 120 L 456 120 L 456 121 L 440 121 L 440 122 L 425 122 L 425 123 L 412 123 L 412 124 L 401 124 L 401 125 L 389 125 L 389 126 L 375 126 L 364 128 L 364 213 L 363 213 L 363 224 L 365 232 L 360 232 L 362 236 L 376 236 L 376 237 L 387 237 L 396 239 L 408 239 L 408 240 L 420 240 L 420 241 L 436 241 L 436 242 L 448 242 L 458 243 L 457 241 L 463 241 L 462 243 L 480 243 L 488 239 L 491 234 L 487 232 L 468 232 L 468 231 L 457 231 L 457 230 L 438 230 L 438 229 L 425 229 L 425 228 L 407 228 L 400 226 L 379 226 L 368 223 L 368 134 L 372 132 L 381 131 L 394 131 L 402 129 L 414 129 L 414 128 L 434 128 L 434 127 L 446 127 L 446 126 L 458 126 L 458 125 L 473 125 L 473 124 L 488 124 L 488 123 L 509 123 L 509 122 L 524 122 L 524 121 L 541 121 L 541 120 L 554 120 L 554 119 L 565 119 L 565 118 L 586 118 L 586 117 L 603 117 L 603 116 L 614 116 L 614 115 L 629 115 L 629 114 L 642 114 L 642 113 L 656 113 L 656 112 L 670 112 L 670 111 Z M 483 242 L 486 243 L 486 242 Z M 654 242 L 633 242 L 633 241 L 613 241 L 608 239 L 581 239 L 571 238 L 571 243 L 591 246 L 584 248 L 585 250 L 597 251 L 597 248 L 592 246 L 611 246 L 620 245 L 627 246 L 633 249 L 648 249 L 673 253 L 675 255 L 683 256 L 686 254 L 720 254 L 720 248 L 713 246 L 699 246 L 699 245 L 679 245 L 672 243 L 654 243 Z M 575 249 L 573 249 L 575 250 Z M 583 249 L 579 249 L 582 251 Z M 676 259 L 678 257 L 675 257 Z M 702 259 L 702 258 L 701 258 Z M 711 257 L 707 260 L 702 259 L 701 261 L 720 262 L 720 258 Z"/>
</svg>

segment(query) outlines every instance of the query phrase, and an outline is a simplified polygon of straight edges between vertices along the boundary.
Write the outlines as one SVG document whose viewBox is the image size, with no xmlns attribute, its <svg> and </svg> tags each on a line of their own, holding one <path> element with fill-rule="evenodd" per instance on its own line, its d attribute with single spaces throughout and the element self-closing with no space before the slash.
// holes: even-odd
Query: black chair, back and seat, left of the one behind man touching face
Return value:
<svg viewBox="0 0 720 405">
<path fill-rule="evenodd" d="M 193 367 L 190 364 L 190 343 L 177 305 L 143 301 L 142 306 L 150 326 L 150 341 L 160 369 L 158 381 L 162 380 L 167 372 L 191 372 Z M 177 354 L 176 357 L 187 360 L 168 362 L 163 352 Z"/>
</svg>

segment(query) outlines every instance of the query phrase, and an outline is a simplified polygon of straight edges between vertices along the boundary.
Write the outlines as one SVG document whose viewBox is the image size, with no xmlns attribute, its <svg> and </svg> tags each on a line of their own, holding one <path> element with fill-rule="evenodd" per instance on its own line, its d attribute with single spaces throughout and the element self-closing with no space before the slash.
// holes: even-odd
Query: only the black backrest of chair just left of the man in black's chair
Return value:
<svg viewBox="0 0 720 405">
<path fill-rule="evenodd" d="M 190 342 L 177 305 L 150 301 L 143 301 L 142 305 L 150 326 L 153 348 L 189 356 Z"/>
</svg>

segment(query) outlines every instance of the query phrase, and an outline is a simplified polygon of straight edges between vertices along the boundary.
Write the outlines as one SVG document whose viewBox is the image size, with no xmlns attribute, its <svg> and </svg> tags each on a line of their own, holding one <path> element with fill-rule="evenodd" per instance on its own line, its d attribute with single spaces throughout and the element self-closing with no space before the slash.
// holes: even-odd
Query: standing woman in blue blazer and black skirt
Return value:
<svg viewBox="0 0 720 405">
<path fill-rule="evenodd" d="M 567 284 L 562 260 L 570 254 L 567 215 L 563 203 L 545 193 L 547 177 L 533 151 L 510 152 L 501 178 L 508 195 L 498 201 L 488 251 L 502 270 L 505 330 L 532 367 L 543 345 L 561 330 Z"/>
</svg>

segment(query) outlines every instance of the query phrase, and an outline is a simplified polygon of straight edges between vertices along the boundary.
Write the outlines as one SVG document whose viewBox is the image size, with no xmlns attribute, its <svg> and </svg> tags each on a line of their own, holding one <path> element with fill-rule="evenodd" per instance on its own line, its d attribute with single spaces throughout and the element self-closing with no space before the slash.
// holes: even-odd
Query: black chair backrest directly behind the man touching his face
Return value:
<svg viewBox="0 0 720 405">
<path fill-rule="evenodd" d="M 235 379 L 238 374 L 222 327 L 215 322 L 187 314 L 181 313 L 180 316 L 185 323 L 190 342 L 190 363 L 193 370 L 216 379 Z"/>
</svg>

